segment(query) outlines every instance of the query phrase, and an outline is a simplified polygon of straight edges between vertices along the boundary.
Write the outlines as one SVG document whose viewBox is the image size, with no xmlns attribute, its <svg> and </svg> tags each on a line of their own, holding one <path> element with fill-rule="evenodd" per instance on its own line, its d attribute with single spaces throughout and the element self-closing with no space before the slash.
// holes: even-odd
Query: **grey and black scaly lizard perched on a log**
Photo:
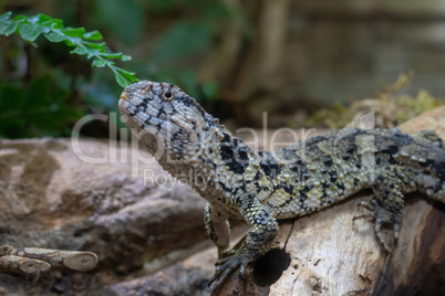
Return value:
<svg viewBox="0 0 445 296">
<path fill-rule="evenodd" d="M 218 249 L 217 289 L 235 272 L 249 278 L 248 264 L 266 254 L 277 220 L 332 207 L 364 189 L 370 203 L 353 219 L 373 218 L 374 234 L 393 225 L 399 237 L 404 195 L 420 191 L 445 203 L 445 150 L 432 130 L 414 136 L 399 129 L 342 129 L 298 141 L 277 152 L 255 150 L 179 87 L 142 81 L 127 86 L 118 107 L 127 127 L 159 165 L 186 178 L 208 203 L 205 225 Z M 229 247 L 228 218 L 250 226 L 238 250 Z"/>
</svg>

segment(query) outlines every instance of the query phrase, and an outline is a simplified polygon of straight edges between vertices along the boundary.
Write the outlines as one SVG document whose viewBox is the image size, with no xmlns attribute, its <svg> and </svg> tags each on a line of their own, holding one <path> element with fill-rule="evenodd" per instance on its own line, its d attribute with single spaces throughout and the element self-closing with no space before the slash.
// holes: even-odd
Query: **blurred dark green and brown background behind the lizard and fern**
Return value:
<svg viewBox="0 0 445 296">
<path fill-rule="evenodd" d="M 232 127 L 260 127 L 267 112 L 270 127 L 335 128 L 370 109 L 392 127 L 444 103 L 445 1 L 0 1 L 7 11 L 99 30 L 132 55 L 118 66 L 179 85 Z M 117 112 L 107 68 L 44 38 L 0 38 L 0 137 L 70 136 L 84 115 Z"/>
</svg>

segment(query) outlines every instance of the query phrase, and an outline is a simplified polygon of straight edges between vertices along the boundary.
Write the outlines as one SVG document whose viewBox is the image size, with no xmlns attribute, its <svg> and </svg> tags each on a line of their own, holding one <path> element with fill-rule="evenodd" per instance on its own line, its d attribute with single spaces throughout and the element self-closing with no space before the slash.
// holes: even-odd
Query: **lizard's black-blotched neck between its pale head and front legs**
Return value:
<svg viewBox="0 0 445 296">
<path fill-rule="evenodd" d="M 249 175 L 253 178 L 262 159 L 261 151 L 234 137 L 207 114 L 200 126 L 197 124 L 190 133 L 170 139 L 158 162 L 203 195 L 224 195 L 249 179 Z"/>
</svg>

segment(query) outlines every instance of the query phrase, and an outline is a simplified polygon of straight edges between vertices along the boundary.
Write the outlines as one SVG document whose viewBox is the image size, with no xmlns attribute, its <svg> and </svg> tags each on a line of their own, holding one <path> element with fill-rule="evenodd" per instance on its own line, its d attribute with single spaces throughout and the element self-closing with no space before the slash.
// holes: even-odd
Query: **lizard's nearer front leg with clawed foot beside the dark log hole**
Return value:
<svg viewBox="0 0 445 296">
<path fill-rule="evenodd" d="M 247 265 L 270 250 L 278 233 L 277 220 L 253 195 L 237 198 L 237 207 L 251 229 L 239 250 L 216 263 L 217 269 L 210 279 L 214 289 L 218 289 L 237 268 L 244 279 L 249 278 L 251 271 L 247 269 Z"/>
</svg>

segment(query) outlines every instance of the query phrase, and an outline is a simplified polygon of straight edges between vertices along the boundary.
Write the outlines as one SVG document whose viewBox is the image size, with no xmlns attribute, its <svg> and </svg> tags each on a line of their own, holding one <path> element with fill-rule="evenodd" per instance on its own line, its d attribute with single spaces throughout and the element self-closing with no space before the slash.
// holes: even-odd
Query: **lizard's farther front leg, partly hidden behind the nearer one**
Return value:
<svg viewBox="0 0 445 296">
<path fill-rule="evenodd" d="M 208 202 L 204 212 L 204 223 L 211 241 L 218 247 L 218 258 L 230 253 L 230 225 L 227 216 L 211 208 Z"/>
</svg>

